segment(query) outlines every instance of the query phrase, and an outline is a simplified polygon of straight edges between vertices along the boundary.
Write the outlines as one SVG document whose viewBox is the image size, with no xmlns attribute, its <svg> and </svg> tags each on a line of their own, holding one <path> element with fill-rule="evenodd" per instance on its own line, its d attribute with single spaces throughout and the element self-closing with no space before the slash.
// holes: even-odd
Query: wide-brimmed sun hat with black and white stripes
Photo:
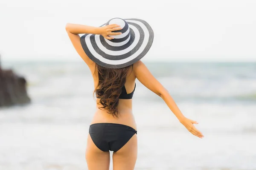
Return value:
<svg viewBox="0 0 256 170">
<path fill-rule="evenodd" d="M 113 18 L 102 26 L 110 24 L 118 24 L 122 30 L 113 32 L 122 34 L 111 35 L 112 40 L 98 34 L 81 36 L 84 52 L 93 62 L 105 68 L 123 68 L 147 54 L 154 40 L 154 32 L 146 21 Z"/>
</svg>

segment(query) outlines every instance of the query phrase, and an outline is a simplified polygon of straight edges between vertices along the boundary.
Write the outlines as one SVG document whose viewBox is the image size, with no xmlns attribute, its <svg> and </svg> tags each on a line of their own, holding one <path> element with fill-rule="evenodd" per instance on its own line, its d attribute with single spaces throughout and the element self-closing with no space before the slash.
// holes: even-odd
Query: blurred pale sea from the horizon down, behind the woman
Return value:
<svg viewBox="0 0 256 170">
<path fill-rule="evenodd" d="M 26 77 L 29 105 L 0 109 L 0 170 L 87 170 L 95 112 L 84 62 L 4 62 Z M 256 170 L 256 62 L 145 62 L 203 134 L 186 130 L 138 80 L 135 170 Z M 112 163 L 111 163 L 112 168 Z"/>
</svg>

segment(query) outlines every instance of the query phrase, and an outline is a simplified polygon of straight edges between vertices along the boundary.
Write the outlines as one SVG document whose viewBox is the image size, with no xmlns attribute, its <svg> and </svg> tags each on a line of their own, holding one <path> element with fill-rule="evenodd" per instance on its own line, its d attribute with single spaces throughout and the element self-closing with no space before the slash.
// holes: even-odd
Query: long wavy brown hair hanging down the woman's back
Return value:
<svg viewBox="0 0 256 170">
<path fill-rule="evenodd" d="M 122 92 L 122 86 L 125 85 L 127 75 L 132 72 L 133 65 L 124 68 L 104 68 L 98 64 L 95 65 L 95 72 L 98 72 L 99 83 L 93 91 L 93 95 L 99 98 L 101 110 L 107 112 L 113 117 L 118 117 L 117 106 L 119 104 L 119 96 Z"/>
</svg>

